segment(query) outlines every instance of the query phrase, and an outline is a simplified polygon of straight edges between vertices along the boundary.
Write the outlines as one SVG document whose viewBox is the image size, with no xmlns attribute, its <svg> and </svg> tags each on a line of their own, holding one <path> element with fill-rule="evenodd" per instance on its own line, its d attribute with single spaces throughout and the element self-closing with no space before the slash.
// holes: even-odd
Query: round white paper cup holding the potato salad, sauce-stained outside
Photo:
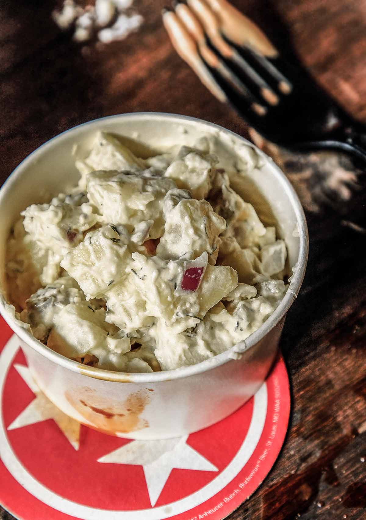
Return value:
<svg viewBox="0 0 366 520">
<path fill-rule="evenodd" d="M 80 365 L 34 339 L 15 319 L 5 296 L 0 295 L 1 314 L 17 334 L 36 383 L 58 408 L 83 424 L 120 437 L 183 436 L 227 417 L 266 379 L 285 315 L 304 278 L 308 254 L 305 216 L 294 189 L 273 161 L 225 128 L 174 114 L 134 113 L 97 119 L 37 148 L 0 190 L 2 293 L 6 242 L 12 224 L 29 204 L 50 200 L 53 194 L 65 192 L 66 186 L 77 182 L 73 147 L 77 144 L 78 154 L 85 156 L 98 130 L 122 136 L 133 151 L 145 157 L 172 145 L 192 145 L 204 135 L 216 136 L 223 153 L 239 153 L 243 145 L 251 146 L 264 164 L 246 179 L 239 179 L 235 188 L 245 191 L 245 200 L 256 204 L 260 217 L 261 208 L 266 206 L 263 200 L 267 201 L 277 221 L 277 233 L 286 241 L 289 272 L 294 268 L 283 301 L 254 334 L 209 360 L 166 372 L 127 374 Z"/>
</svg>

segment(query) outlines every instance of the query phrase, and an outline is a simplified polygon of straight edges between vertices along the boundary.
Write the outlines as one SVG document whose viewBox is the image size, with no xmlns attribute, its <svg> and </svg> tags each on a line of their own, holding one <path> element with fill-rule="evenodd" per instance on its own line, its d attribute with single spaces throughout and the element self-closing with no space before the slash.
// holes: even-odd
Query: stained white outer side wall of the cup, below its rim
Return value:
<svg viewBox="0 0 366 520">
<path fill-rule="evenodd" d="M 87 375 L 87 367 L 72 372 L 19 341 L 37 385 L 67 415 L 110 435 L 162 439 L 214 424 L 253 396 L 272 366 L 283 321 L 239 359 L 156 383 L 104 381 Z"/>
</svg>

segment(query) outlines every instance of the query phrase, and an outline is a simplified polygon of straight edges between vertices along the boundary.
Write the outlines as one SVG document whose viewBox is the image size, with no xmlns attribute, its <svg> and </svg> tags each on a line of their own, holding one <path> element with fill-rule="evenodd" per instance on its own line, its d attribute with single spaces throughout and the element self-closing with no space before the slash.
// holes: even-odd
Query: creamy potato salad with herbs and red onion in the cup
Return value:
<svg viewBox="0 0 366 520">
<path fill-rule="evenodd" d="M 224 352 L 273 313 L 286 245 L 205 139 L 140 159 L 99 132 L 75 163 L 78 186 L 21 213 L 8 296 L 37 340 L 101 369 L 173 370 Z"/>
</svg>

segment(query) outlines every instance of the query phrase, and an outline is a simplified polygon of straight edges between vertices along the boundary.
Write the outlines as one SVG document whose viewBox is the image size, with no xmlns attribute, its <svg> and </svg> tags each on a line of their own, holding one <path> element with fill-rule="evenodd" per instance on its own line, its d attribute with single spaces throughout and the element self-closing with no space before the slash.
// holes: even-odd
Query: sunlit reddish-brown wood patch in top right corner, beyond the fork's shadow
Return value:
<svg viewBox="0 0 366 520">
<path fill-rule="evenodd" d="M 366 122 L 366 1 L 273 4 L 313 76 L 345 110 Z"/>
</svg>

